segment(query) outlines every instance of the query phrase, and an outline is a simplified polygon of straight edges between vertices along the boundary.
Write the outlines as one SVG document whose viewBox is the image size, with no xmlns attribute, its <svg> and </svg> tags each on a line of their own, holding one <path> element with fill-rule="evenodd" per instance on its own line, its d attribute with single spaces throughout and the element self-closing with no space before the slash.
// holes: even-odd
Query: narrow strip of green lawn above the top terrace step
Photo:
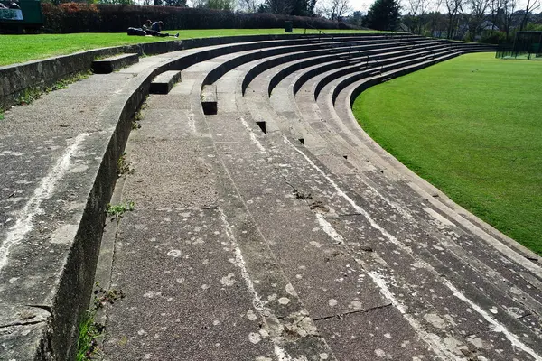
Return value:
<svg viewBox="0 0 542 361">
<path fill-rule="evenodd" d="M 234 35 L 264 35 L 284 34 L 284 29 L 205 29 L 205 30 L 170 30 L 179 32 L 179 39 L 206 38 L 212 36 Z M 307 29 L 307 33 L 316 31 Z M 337 32 L 369 32 L 348 30 L 325 30 L 326 33 Z M 370 31 L 372 32 L 372 31 Z M 302 34 L 304 29 L 294 29 L 294 34 Z M 126 32 L 114 33 L 71 33 L 71 34 L 40 34 L 40 35 L 0 35 L 0 66 L 28 60 L 50 58 L 55 55 L 65 55 L 76 51 L 135 44 L 139 42 L 161 42 L 174 38 L 157 38 L 152 36 L 128 36 Z"/>
</svg>

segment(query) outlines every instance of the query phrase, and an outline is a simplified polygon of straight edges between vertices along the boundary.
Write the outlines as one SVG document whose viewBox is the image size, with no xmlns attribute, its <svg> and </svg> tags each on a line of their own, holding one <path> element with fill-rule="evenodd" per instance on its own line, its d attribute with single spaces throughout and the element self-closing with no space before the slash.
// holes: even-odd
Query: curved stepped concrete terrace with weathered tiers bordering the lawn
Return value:
<svg viewBox="0 0 542 361">
<path fill-rule="evenodd" d="M 107 222 L 96 274 L 126 294 L 107 309 L 104 359 L 542 359 L 537 255 L 417 178 L 350 111 L 380 81 L 486 50 L 412 35 L 232 42 L 7 112 L 0 355 L 73 356 L 126 144 L 134 173 L 113 198 L 135 210 Z M 148 97 L 129 134 L 172 69 L 182 81 Z"/>
</svg>

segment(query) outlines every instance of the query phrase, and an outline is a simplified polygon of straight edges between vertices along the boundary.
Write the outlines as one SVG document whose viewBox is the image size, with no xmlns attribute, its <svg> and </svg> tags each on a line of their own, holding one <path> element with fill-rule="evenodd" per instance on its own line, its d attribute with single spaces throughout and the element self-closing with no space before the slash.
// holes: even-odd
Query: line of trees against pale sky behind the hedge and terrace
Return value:
<svg viewBox="0 0 542 361">
<path fill-rule="evenodd" d="M 71 0 L 46 0 L 59 5 Z M 243 13 L 322 17 L 357 27 L 447 39 L 502 42 L 514 32 L 542 30 L 542 0 L 375 0 L 367 14 L 350 0 L 88 0 L 90 4 L 192 7 Z"/>
</svg>

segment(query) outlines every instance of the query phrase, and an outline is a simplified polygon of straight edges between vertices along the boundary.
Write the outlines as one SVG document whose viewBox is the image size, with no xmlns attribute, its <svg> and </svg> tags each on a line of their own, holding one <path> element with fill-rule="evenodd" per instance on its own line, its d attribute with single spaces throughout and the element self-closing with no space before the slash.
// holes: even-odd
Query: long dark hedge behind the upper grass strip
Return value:
<svg viewBox="0 0 542 361">
<path fill-rule="evenodd" d="M 285 21 L 303 28 L 309 23 L 317 29 L 348 29 L 350 25 L 317 17 L 266 13 L 233 13 L 209 9 L 170 6 L 105 5 L 65 3 L 42 4 L 45 32 L 126 32 L 140 27 L 146 19 L 162 20 L 165 29 L 272 29 Z"/>
</svg>

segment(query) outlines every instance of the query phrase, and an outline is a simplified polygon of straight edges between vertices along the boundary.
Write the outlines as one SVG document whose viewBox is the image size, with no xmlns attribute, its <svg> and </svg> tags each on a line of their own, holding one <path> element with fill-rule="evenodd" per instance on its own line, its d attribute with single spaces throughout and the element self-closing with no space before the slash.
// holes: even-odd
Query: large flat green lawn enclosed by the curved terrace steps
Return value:
<svg viewBox="0 0 542 361">
<path fill-rule="evenodd" d="M 542 62 L 463 55 L 363 92 L 363 129 L 473 214 L 542 255 Z"/>
</svg>

